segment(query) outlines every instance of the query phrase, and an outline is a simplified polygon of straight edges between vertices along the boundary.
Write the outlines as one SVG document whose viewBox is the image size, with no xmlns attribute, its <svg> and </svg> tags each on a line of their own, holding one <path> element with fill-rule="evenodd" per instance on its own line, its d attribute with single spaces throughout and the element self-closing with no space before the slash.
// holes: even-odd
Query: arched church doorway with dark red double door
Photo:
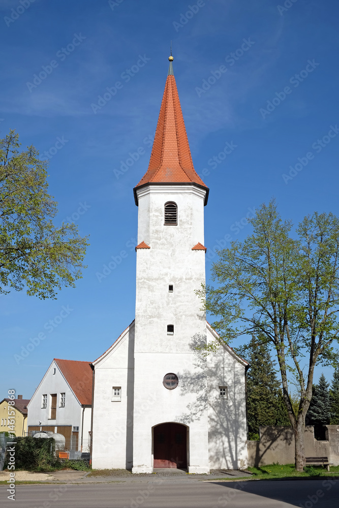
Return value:
<svg viewBox="0 0 339 508">
<path fill-rule="evenodd" d="M 153 428 L 153 467 L 187 467 L 187 427 L 162 423 Z"/>
</svg>

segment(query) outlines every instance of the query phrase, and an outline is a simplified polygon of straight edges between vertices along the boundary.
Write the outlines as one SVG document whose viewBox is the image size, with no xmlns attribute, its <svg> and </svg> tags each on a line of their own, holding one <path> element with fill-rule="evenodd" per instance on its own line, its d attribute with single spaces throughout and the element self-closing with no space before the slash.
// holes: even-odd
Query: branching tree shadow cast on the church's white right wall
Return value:
<svg viewBox="0 0 339 508">
<path fill-rule="evenodd" d="M 192 337 L 194 371 L 178 373 L 182 395 L 195 394 L 195 401 L 188 404 L 178 421 L 190 425 L 208 415 L 211 468 L 237 469 L 247 457 L 244 371 L 240 365 L 230 368 L 230 354 L 223 346 L 214 353 L 206 351 L 205 345 L 206 336 Z M 219 397 L 219 386 L 224 385 L 228 386 L 227 399 Z"/>
</svg>

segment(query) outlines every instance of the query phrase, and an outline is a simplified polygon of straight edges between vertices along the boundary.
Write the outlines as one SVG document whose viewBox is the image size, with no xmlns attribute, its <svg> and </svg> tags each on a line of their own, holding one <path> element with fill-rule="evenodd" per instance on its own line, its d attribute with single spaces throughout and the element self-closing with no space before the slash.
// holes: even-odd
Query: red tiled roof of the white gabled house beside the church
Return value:
<svg viewBox="0 0 339 508">
<path fill-rule="evenodd" d="M 54 358 L 54 362 L 64 374 L 80 404 L 90 406 L 93 383 L 93 371 L 90 362 L 60 360 L 59 358 Z"/>
</svg>

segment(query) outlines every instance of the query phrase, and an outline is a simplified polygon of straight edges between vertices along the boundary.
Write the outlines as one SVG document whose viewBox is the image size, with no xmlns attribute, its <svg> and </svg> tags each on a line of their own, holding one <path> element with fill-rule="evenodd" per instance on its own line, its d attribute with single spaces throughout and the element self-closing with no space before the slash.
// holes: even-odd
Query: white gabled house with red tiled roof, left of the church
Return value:
<svg viewBox="0 0 339 508">
<path fill-rule="evenodd" d="M 89 452 L 92 384 L 89 362 L 54 358 L 27 405 L 28 433 L 57 432 L 66 450 Z"/>
</svg>

